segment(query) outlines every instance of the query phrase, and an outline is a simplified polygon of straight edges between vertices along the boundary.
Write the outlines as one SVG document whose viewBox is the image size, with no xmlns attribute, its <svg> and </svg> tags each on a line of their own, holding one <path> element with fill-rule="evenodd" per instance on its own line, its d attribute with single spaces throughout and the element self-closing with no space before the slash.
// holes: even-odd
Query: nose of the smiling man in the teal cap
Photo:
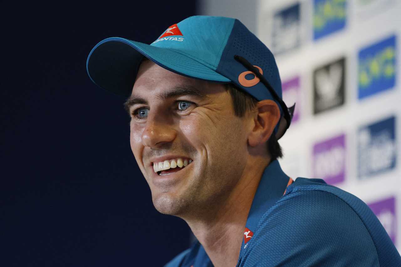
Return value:
<svg viewBox="0 0 401 267">
<path fill-rule="evenodd" d="M 149 114 L 150 115 L 150 114 Z M 142 144 L 148 147 L 160 147 L 176 138 L 176 131 L 162 118 L 148 116 L 142 132 Z"/>
</svg>

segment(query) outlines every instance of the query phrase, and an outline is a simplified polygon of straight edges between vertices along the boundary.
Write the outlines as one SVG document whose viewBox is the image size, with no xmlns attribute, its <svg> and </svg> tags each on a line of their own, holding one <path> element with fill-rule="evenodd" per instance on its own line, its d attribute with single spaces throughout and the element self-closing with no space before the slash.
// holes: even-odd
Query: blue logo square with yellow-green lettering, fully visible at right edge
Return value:
<svg viewBox="0 0 401 267">
<path fill-rule="evenodd" d="M 395 35 L 358 53 L 358 98 L 391 89 L 395 85 Z"/>
</svg>

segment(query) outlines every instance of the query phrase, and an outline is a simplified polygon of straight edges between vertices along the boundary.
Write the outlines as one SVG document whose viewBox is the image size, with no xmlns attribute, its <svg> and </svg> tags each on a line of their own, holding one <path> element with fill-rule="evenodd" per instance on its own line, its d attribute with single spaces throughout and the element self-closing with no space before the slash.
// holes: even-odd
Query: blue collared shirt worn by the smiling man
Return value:
<svg viewBox="0 0 401 267">
<path fill-rule="evenodd" d="M 295 182 L 274 160 L 249 210 L 237 266 L 401 266 L 372 210 L 322 179 Z M 199 242 L 165 267 L 209 267 Z"/>
</svg>

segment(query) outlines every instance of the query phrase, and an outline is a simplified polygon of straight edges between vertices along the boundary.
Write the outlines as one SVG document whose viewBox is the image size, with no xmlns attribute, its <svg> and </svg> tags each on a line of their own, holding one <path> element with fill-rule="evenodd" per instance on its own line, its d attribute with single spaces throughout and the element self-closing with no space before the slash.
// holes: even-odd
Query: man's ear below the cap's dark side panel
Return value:
<svg viewBox="0 0 401 267">
<path fill-rule="evenodd" d="M 248 136 L 250 146 L 267 142 L 280 119 L 280 109 L 273 100 L 259 101 L 256 108 L 257 111 L 253 113 L 254 127 Z"/>
</svg>

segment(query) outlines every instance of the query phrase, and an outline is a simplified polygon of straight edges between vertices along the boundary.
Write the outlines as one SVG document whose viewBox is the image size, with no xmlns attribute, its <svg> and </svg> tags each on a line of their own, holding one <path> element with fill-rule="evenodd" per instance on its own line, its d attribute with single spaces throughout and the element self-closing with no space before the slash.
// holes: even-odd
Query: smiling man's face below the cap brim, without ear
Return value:
<svg viewBox="0 0 401 267">
<path fill-rule="evenodd" d="M 229 196 L 245 169 L 251 124 L 234 115 L 224 85 L 144 61 L 129 102 L 131 149 L 159 212 L 188 216 Z M 188 165 L 171 168 L 179 159 Z"/>
</svg>

